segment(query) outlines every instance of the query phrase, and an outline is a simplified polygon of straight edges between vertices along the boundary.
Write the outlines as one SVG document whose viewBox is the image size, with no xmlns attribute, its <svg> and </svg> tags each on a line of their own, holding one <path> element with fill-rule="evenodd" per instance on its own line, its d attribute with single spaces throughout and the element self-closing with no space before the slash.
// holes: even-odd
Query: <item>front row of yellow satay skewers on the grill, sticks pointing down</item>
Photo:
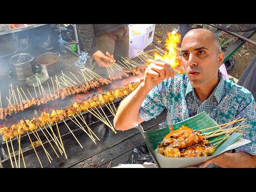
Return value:
<svg viewBox="0 0 256 192">
<path fill-rule="evenodd" d="M 0 133 L 3 134 L 3 140 L 6 141 L 6 146 L 7 146 L 7 150 L 8 150 L 8 153 L 9 153 L 9 157 L 10 157 L 10 160 L 11 160 L 12 167 L 14 167 L 14 165 L 13 165 L 13 162 L 12 162 L 12 156 L 11 156 L 11 152 L 10 152 L 7 140 L 10 140 L 16 167 L 20 167 L 20 154 L 21 154 L 22 159 L 23 159 L 23 165 L 26 167 L 25 160 L 24 160 L 23 154 L 22 154 L 22 149 L 21 149 L 21 146 L 20 146 L 20 135 L 24 134 L 25 132 L 28 135 L 28 138 L 31 142 L 30 146 L 34 149 L 35 154 L 38 158 L 38 161 L 39 161 L 41 167 L 43 167 L 43 165 L 42 165 L 42 163 L 39 159 L 39 156 L 37 154 L 37 151 L 35 149 L 35 146 L 36 146 L 35 143 L 39 143 L 39 145 L 42 145 L 43 150 L 45 151 L 45 154 L 46 154 L 47 158 L 49 159 L 49 162 L 51 163 L 52 157 L 50 156 L 50 154 L 48 153 L 48 151 L 44 147 L 43 141 L 39 137 L 39 135 L 37 133 L 37 130 L 41 130 L 43 132 L 43 134 L 45 135 L 45 138 L 50 143 L 52 149 L 54 150 L 54 153 L 58 156 L 58 158 L 59 158 L 59 155 L 58 155 L 57 151 L 54 149 L 54 147 L 52 146 L 51 141 L 47 138 L 47 136 L 46 136 L 47 133 L 52 138 L 52 141 L 57 145 L 57 147 L 60 151 L 60 154 L 61 155 L 65 154 L 65 157 L 67 158 L 67 154 L 66 154 L 65 148 L 63 146 L 62 140 L 61 140 L 61 135 L 60 135 L 60 131 L 59 131 L 58 123 L 57 123 L 58 121 L 63 121 L 66 124 L 70 133 L 74 136 L 74 138 L 76 139 L 78 144 L 83 148 L 81 143 L 75 137 L 75 134 L 73 133 L 73 131 L 71 131 L 71 129 L 69 128 L 69 126 L 65 122 L 66 118 L 69 118 L 80 129 L 82 129 L 95 144 L 96 144 L 96 142 L 95 142 L 95 139 L 94 139 L 93 135 L 100 141 L 100 139 L 97 137 L 97 135 L 95 135 L 93 133 L 93 131 L 90 129 L 90 127 L 85 122 L 85 119 L 84 119 L 84 117 L 81 113 L 82 111 L 89 111 L 93 116 L 97 117 L 101 122 L 105 123 L 107 126 L 109 126 L 116 133 L 114 127 L 111 125 L 106 113 L 103 111 L 101 106 L 105 105 L 108 108 L 108 110 L 110 111 L 110 113 L 113 116 L 115 116 L 116 108 L 114 106 L 113 100 L 117 99 L 119 97 L 120 98 L 126 97 L 128 94 L 130 94 L 132 91 L 134 91 L 141 82 L 142 82 L 142 80 L 140 82 L 137 82 L 137 83 L 129 83 L 129 84 L 125 85 L 123 88 L 117 88 L 114 91 L 102 92 L 99 95 L 94 94 L 92 98 L 89 98 L 89 99 L 87 99 L 85 101 L 82 101 L 82 102 L 79 102 L 79 103 L 74 102 L 72 106 L 69 106 L 66 109 L 52 110 L 51 114 L 46 113 L 45 111 L 43 111 L 39 117 L 33 117 L 33 119 L 31 119 L 31 121 L 29 119 L 26 119 L 26 120 L 22 119 L 20 121 L 20 123 L 14 124 L 11 127 L 3 127 L 2 129 L 0 129 Z M 114 111 L 114 109 L 111 108 L 110 102 L 113 103 L 115 111 Z M 107 104 L 109 104 L 109 106 Z M 100 111 L 98 110 L 97 107 L 99 107 L 101 109 L 102 113 L 100 113 Z M 98 111 L 98 113 L 97 113 L 97 111 Z M 104 116 L 102 114 L 104 114 Z M 77 115 L 77 117 L 75 115 Z M 75 119 L 75 120 L 73 120 L 70 117 L 73 117 L 73 119 Z M 78 121 L 78 119 L 77 119 L 78 117 L 86 125 L 88 131 L 86 131 L 84 129 L 84 127 L 82 126 L 82 124 Z M 54 124 L 54 123 L 57 127 L 59 135 L 56 135 L 53 131 L 52 124 Z M 46 129 L 46 127 L 45 127 L 46 124 L 50 127 L 50 131 L 48 131 Z M 42 127 L 44 127 L 45 129 L 42 129 Z M 47 133 L 45 133 L 44 130 Z M 29 135 L 29 131 L 31 131 L 34 134 L 35 138 L 37 139 L 37 142 L 33 142 L 31 140 L 30 135 Z M 52 135 L 51 135 L 50 132 L 52 132 Z M 14 152 L 14 148 L 13 148 L 13 145 L 12 145 L 12 139 L 14 137 L 17 138 L 17 141 L 19 143 L 18 161 L 15 157 L 15 152 Z"/>
</svg>

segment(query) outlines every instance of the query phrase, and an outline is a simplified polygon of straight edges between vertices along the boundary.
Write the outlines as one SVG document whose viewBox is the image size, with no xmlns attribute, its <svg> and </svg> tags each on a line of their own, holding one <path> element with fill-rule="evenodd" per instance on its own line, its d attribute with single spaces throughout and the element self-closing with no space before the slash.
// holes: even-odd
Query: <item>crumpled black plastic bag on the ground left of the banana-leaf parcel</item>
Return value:
<svg viewBox="0 0 256 192">
<path fill-rule="evenodd" d="M 129 164 L 143 164 L 145 162 L 154 163 L 146 143 L 142 143 L 138 148 L 134 148 L 131 152 Z"/>
</svg>

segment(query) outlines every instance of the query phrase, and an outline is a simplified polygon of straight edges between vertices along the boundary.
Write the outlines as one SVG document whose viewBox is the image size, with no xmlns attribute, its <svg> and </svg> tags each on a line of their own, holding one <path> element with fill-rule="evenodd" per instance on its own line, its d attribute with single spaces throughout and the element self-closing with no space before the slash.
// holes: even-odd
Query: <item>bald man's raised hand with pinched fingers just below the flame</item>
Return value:
<svg viewBox="0 0 256 192">
<path fill-rule="evenodd" d="M 161 83 L 165 78 L 174 78 L 172 67 L 161 60 L 152 60 L 145 70 L 144 84 L 147 89 L 153 89 L 154 86 Z"/>
</svg>

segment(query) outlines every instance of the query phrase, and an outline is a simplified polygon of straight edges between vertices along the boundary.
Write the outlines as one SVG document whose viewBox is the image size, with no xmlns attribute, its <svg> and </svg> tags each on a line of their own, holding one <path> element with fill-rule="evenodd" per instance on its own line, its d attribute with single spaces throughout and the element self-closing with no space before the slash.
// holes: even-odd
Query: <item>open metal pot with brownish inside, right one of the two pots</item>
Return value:
<svg viewBox="0 0 256 192">
<path fill-rule="evenodd" d="M 44 53 L 38 56 L 37 69 L 41 70 L 41 75 L 44 77 L 53 77 L 60 73 L 59 65 L 60 53 Z"/>
</svg>

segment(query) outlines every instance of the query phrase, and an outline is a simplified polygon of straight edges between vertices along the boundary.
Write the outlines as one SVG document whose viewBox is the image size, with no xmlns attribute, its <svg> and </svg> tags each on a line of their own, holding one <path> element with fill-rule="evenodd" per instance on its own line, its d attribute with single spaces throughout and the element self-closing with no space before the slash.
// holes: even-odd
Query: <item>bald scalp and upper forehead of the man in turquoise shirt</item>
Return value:
<svg viewBox="0 0 256 192">
<path fill-rule="evenodd" d="M 188 31 L 188 33 L 183 37 L 183 41 L 185 41 L 186 38 L 204 38 L 205 41 L 212 42 L 212 45 L 215 47 L 217 53 L 222 52 L 219 37 L 215 35 L 211 30 L 203 28 L 192 29 Z"/>
</svg>

